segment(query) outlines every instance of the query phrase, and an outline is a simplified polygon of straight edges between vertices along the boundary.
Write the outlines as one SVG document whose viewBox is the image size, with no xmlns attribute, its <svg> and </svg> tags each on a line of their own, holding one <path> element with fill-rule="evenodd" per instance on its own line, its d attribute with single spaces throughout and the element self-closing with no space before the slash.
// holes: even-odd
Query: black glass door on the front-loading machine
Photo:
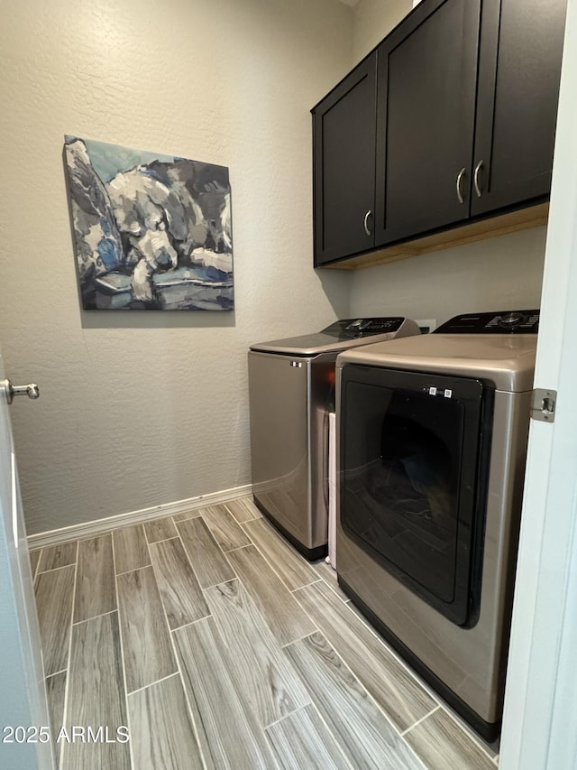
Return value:
<svg viewBox="0 0 577 770">
<path fill-rule="evenodd" d="M 480 380 L 343 366 L 343 531 L 460 626 L 479 603 L 489 396 Z"/>
</svg>

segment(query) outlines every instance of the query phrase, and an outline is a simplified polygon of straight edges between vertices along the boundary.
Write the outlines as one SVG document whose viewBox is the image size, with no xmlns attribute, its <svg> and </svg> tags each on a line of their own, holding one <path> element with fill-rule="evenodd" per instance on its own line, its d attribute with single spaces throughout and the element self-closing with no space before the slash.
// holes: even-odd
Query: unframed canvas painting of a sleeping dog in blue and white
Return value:
<svg viewBox="0 0 577 770">
<path fill-rule="evenodd" d="M 85 310 L 232 311 L 228 169 L 65 137 Z"/>
</svg>

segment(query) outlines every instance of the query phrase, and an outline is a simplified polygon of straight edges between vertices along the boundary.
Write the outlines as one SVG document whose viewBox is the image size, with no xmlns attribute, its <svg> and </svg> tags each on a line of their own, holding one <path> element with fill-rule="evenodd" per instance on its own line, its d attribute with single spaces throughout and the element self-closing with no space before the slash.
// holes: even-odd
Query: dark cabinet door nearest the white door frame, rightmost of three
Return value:
<svg viewBox="0 0 577 770">
<path fill-rule="evenodd" d="M 566 0 L 484 0 L 472 214 L 547 196 Z"/>
</svg>

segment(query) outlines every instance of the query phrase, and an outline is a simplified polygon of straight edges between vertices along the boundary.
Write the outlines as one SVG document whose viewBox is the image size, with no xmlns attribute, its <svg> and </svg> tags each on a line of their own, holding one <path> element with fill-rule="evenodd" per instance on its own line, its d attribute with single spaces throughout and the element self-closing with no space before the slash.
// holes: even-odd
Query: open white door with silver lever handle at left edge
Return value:
<svg viewBox="0 0 577 770">
<path fill-rule="evenodd" d="M 9 407 L 9 400 L 0 351 L 0 767 L 51 770 L 40 633 L 8 414 L 33 404 Z"/>
</svg>

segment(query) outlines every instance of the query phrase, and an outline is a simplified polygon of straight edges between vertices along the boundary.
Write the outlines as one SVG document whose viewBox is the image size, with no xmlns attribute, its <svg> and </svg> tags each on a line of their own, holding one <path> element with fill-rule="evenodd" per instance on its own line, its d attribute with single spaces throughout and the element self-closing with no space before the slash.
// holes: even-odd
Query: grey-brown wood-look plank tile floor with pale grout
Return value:
<svg viewBox="0 0 577 770">
<path fill-rule="evenodd" d="M 31 565 L 60 770 L 497 766 L 249 497 Z"/>
</svg>

